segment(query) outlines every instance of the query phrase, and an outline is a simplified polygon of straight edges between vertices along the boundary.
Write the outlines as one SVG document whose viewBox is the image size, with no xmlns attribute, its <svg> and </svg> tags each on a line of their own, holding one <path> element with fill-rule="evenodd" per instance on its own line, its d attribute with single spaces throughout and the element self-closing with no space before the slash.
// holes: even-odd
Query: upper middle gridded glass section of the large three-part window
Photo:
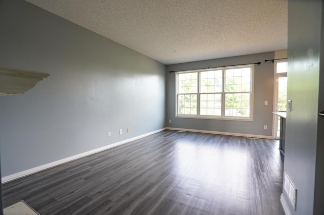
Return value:
<svg viewBox="0 0 324 215">
<path fill-rule="evenodd" d="M 200 72 L 200 92 L 221 92 L 222 70 Z"/>
</svg>

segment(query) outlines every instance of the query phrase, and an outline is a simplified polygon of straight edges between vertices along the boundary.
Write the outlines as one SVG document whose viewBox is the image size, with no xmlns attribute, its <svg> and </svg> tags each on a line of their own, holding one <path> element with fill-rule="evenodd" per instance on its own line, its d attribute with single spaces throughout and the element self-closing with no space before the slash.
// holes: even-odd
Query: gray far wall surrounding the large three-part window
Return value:
<svg viewBox="0 0 324 215">
<path fill-rule="evenodd" d="M 273 109 L 273 63 L 266 59 L 273 59 L 274 52 L 260 53 L 232 58 L 223 58 L 207 61 L 198 61 L 167 66 L 167 71 L 192 70 L 208 67 L 220 67 L 236 64 L 249 64 L 261 62 L 255 65 L 254 79 L 254 121 L 231 121 L 210 119 L 185 119 L 175 117 L 175 73 L 167 74 L 167 105 L 168 127 L 197 129 L 206 131 L 230 132 L 241 134 L 254 134 L 272 136 L 272 109 Z M 264 101 L 268 105 L 264 105 Z M 172 123 L 169 123 L 169 119 Z M 263 126 L 268 127 L 267 130 Z"/>
</svg>

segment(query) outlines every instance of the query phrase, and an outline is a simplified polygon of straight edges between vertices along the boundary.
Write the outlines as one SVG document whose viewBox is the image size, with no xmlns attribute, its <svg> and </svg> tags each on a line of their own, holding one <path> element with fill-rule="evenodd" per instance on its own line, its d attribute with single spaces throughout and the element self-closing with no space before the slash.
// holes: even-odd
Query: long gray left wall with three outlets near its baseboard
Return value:
<svg viewBox="0 0 324 215">
<path fill-rule="evenodd" d="M 0 29 L 0 66 L 50 74 L 0 97 L 3 177 L 166 126 L 165 65 L 24 1 Z"/>
</svg>

